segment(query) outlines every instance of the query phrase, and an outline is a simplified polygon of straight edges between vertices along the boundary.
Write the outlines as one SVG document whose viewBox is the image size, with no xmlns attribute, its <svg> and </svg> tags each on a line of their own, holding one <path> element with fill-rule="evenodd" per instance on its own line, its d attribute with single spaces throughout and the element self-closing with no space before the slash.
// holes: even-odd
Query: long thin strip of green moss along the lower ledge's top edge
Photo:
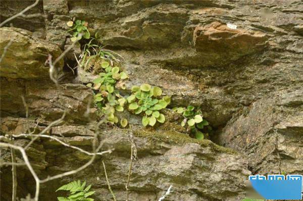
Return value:
<svg viewBox="0 0 303 201">
<path fill-rule="evenodd" d="M 203 147 L 210 146 L 213 150 L 216 150 L 217 152 L 220 153 L 237 154 L 235 150 L 223 146 L 219 146 L 208 139 L 203 139 L 203 140 L 194 139 L 176 131 L 170 130 L 170 131 L 157 132 L 157 131 L 146 131 L 143 129 L 135 129 L 133 130 L 133 133 L 134 136 L 136 137 L 145 137 L 153 141 L 163 141 L 170 144 L 180 144 L 180 145 L 186 143 L 197 143 Z"/>
</svg>

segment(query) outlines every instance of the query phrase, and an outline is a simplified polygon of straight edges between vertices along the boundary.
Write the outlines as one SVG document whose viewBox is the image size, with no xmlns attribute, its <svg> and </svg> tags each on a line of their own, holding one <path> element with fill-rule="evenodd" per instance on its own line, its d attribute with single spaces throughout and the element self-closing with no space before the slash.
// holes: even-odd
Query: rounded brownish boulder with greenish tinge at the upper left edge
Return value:
<svg viewBox="0 0 303 201">
<path fill-rule="evenodd" d="M 32 36 L 32 32 L 19 28 L 0 28 L 0 49 L 7 48 L 1 62 L 1 77 L 37 79 L 49 77 L 48 55 L 53 61 L 62 53 L 59 46 Z M 63 60 L 56 67 L 63 68 Z"/>
</svg>

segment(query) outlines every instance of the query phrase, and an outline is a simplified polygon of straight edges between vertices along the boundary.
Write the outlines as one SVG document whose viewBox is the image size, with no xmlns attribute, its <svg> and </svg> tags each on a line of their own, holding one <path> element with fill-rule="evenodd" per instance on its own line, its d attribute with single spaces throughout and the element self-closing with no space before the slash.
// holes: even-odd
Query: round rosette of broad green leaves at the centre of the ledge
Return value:
<svg viewBox="0 0 303 201">
<path fill-rule="evenodd" d="M 142 84 L 141 86 L 133 86 L 131 91 L 132 94 L 126 98 L 129 103 L 128 109 L 137 115 L 144 112 L 143 126 L 154 126 L 157 121 L 165 122 L 165 116 L 160 111 L 170 104 L 171 98 L 164 96 L 162 99 L 158 99 L 162 95 L 160 87 Z"/>
</svg>

